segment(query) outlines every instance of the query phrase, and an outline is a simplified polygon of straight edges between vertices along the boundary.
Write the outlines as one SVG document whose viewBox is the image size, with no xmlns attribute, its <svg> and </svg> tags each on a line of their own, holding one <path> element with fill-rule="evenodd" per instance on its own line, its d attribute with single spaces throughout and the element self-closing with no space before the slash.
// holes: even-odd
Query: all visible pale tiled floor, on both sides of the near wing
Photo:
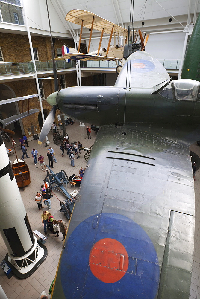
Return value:
<svg viewBox="0 0 200 299">
<path fill-rule="evenodd" d="M 70 141 L 80 141 L 83 146 L 90 147 L 93 145 L 94 140 L 96 138 L 96 133 L 94 131 L 91 132 L 92 139 L 87 139 L 87 133 L 86 133 L 86 127 L 87 124 L 85 124 L 85 127 L 79 126 L 78 122 L 75 122 L 73 126 L 68 125 L 66 126 L 67 133 L 70 136 Z M 62 132 L 62 131 L 60 131 Z M 85 152 L 82 151 L 82 154 L 80 155 L 79 159 L 75 158 L 75 167 L 72 168 L 70 166 L 70 160 L 68 156 L 65 154 L 65 157 L 62 157 L 61 151 L 60 151 L 60 144 L 56 146 L 53 143 L 52 140 L 52 132 L 48 134 L 50 144 L 54 149 L 54 152 L 56 153 L 56 159 L 57 163 L 54 164 L 55 168 L 53 168 L 54 173 L 59 172 L 60 170 L 65 170 L 68 177 L 71 176 L 73 173 L 78 174 L 80 167 L 86 166 L 86 161 L 84 159 Z M 17 138 L 16 140 L 17 141 Z M 9 148 L 11 145 L 8 145 L 6 143 L 6 147 Z M 37 193 L 37 191 L 40 190 L 40 185 L 43 182 L 43 179 L 45 178 L 46 173 L 42 172 L 39 164 L 35 165 L 33 158 L 31 157 L 31 150 L 32 148 L 36 148 L 42 155 L 45 157 L 45 161 L 47 162 L 47 156 L 46 152 L 47 149 L 44 147 L 44 144 L 42 146 L 38 146 L 37 141 L 31 141 L 29 142 L 29 147 L 27 150 L 28 155 L 30 156 L 29 159 L 26 159 L 25 161 L 28 164 L 28 167 L 31 172 L 31 184 L 25 187 L 25 191 L 20 190 L 20 193 L 22 195 L 22 199 L 28 214 L 29 221 L 31 223 L 32 230 L 38 230 L 41 233 L 43 233 L 43 227 L 41 223 L 41 216 L 40 214 L 42 212 L 38 211 L 37 204 L 35 203 L 34 197 Z M 48 147 L 49 148 L 49 147 Z M 197 144 L 193 144 L 190 149 L 195 152 L 197 155 L 200 156 L 200 146 Z M 21 158 L 21 149 L 20 147 L 17 147 L 16 149 L 17 155 L 19 158 Z M 15 160 L 16 157 L 9 154 L 10 160 L 12 162 Z M 192 281 L 191 281 L 191 290 L 190 290 L 190 299 L 200 299 L 200 169 L 196 172 L 196 181 L 194 182 L 195 186 L 195 247 L 194 247 L 194 265 L 193 265 L 193 274 L 192 274 Z M 67 191 L 70 193 L 74 189 L 77 189 L 76 187 L 72 187 L 71 185 L 67 186 Z M 56 196 L 62 201 L 64 199 L 63 194 L 61 194 L 58 191 L 54 192 Z M 59 212 L 60 204 L 58 199 L 53 196 L 51 198 L 51 213 L 54 216 L 54 219 L 62 219 L 66 221 L 65 216 L 63 213 Z M 68 222 L 66 222 L 68 225 Z M 34 272 L 34 274 L 24 280 L 20 280 L 16 278 L 15 276 L 8 279 L 2 269 L 0 269 L 0 285 L 4 289 L 4 292 L 6 293 L 7 297 L 9 299 L 38 299 L 40 296 L 40 293 L 45 290 L 48 293 L 49 286 L 51 285 L 52 280 L 55 277 L 56 269 L 58 260 L 60 257 L 60 251 L 62 249 L 62 235 L 59 234 L 58 238 L 55 238 L 53 234 L 50 234 L 47 236 L 48 239 L 46 240 L 46 247 L 48 248 L 48 256 L 45 260 L 45 262 Z M 6 246 L 0 236 L 0 261 L 4 259 L 5 255 L 7 254 Z"/>
</svg>

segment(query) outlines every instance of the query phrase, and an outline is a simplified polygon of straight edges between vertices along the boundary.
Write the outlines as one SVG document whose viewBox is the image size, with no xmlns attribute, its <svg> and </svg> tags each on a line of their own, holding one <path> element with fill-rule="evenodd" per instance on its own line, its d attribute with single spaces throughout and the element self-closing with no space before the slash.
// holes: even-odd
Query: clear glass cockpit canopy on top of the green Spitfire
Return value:
<svg viewBox="0 0 200 299">
<path fill-rule="evenodd" d="M 174 92 L 173 92 L 174 91 Z M 179 79 L 170 82 L 159 94 L 172 100 L 195 101 L 198 97 L 199 82 L 191 79 Z"/>
</svg>

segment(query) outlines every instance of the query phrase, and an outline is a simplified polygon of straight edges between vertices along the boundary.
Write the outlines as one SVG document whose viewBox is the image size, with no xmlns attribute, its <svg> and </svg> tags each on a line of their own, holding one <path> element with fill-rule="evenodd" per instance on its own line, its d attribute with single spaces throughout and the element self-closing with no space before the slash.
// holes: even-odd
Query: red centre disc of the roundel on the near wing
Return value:
<svg viewBox="0 0 200 299">
<path fill-rule="evenodd" d="M 128 254 L 115 239 L 101 239 L 90 250 L 89 266 L 93 275 L 105 283 L 120 280 L 128 269 Z"/>
</svg>

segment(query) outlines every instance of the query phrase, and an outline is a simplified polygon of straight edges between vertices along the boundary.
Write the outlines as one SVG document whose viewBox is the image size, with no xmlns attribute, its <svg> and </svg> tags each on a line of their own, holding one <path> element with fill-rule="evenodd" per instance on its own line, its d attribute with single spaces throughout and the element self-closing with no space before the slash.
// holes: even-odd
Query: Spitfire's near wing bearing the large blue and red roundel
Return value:
<svg viewBox="0 0 200 299">
<path fill-rule="evenodd" d="M 167 126 L 99 129 L 52 299 L 189 298 L 193 173 L 188 147 L 162 137 Z"/>
</svg>

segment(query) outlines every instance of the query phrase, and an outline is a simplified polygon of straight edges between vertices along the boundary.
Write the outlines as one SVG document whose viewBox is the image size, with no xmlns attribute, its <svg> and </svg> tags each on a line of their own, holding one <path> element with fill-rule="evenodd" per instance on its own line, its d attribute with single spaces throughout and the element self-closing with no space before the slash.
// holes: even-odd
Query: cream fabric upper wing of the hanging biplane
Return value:
<svg viewBox="0 0 200 299">
<path fill-rule="evenodd" d="M 81 25 L 82 20 L 83 20 L 83 25 L 86 28 L 91 28 L 91 24 L 93 21 L 94 17 L 94 25 L 93 29 L 97 31 L 102 31 L 104 28 L 104 32 L 106 34 L 110 34 L 113 26 L 114 26 L 114 32 L 119 33 L 119 35 L 127 34 L 128 29 L 123 28 L 119 25 L 116 25 L 106 19 L 101 18 L 100 16 L 95 15 L 94 13 L 91 13 L 90 11 L 87 10 L 79 10 L 79 9 L 72 9 L 67 13 L 66 15 L 66 21 L 69 21 L 71 23 L 75 23 L 77 25 Z"/>
</svg>

